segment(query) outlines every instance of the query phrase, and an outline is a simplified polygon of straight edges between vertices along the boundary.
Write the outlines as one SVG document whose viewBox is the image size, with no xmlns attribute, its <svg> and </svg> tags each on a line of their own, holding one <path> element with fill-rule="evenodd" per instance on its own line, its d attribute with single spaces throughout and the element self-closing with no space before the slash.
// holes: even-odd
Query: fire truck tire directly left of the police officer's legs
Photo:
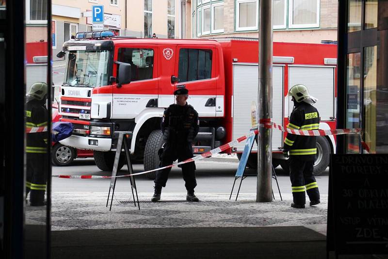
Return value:
<svg viewBox="0 0 388 259">
<path fill-rule="evenodd" d="M 159 167 L 159 155 L 158 151 L 163 146 L 163 134 L 162 130 L 153 130 L 147 139 L 146 148 L 144 149 L 144 170 L 152 170 Z M 149 179 L 156 178 L 156 172 L 146 174 Z"/>
</svg>

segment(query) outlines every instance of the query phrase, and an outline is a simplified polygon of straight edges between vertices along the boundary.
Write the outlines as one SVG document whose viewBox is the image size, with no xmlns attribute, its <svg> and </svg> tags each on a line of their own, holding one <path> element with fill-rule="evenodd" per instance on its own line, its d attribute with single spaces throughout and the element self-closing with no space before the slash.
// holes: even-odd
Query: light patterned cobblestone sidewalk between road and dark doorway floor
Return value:
<svg viewBox="0 0 388 259">
<path fill-rule="evenodd" d="M 195 193 L 200 202 L 186 202 L 186 193 L 162 193 L 150 202 L 152 193 L 139 193 L 140 209 L 131 193 L 115 193 L 112 211 L 106 207 L 108 192 L 53 193 L 52 230 L 168 228 L 168 227 L 278 227 L 306 226 L 326 233 L 327 195 L 321 204 L 294 209 L 291 194 L 275 193 L 272 202 L 256 202 L 256 194 Z"/>
</svg>

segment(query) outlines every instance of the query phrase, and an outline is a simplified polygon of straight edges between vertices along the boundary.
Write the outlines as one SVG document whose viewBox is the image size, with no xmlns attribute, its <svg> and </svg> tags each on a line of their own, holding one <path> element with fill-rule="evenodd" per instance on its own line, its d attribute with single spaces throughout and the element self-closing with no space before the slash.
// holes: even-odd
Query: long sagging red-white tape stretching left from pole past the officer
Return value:
<svg viewBox="0 0 388 259">
<path fill-rule="evenodd" d="M 250 136 L 253 136 L 253 135 L 256 135 L 256 134 L 259 134 L 259 130 L 255 130 L 255 131 L 252 131 L 251 133 L 245 135 L 245 136 L 242 136 L 236 140 L 233 140 L 225 145 L 222 145 L 222 146 L 219 146 L 217 148 L 214 148 L 208 152 L 205 152 L 201 155 L 198 155 L 196 157 L 193 157 L 193 158 L 189 158 L 189 159 L 186 159 L 185 161 L 181 161 L 181 162 L 178 162 L 178 163 L 173 163 L 173 164 L 170 164 L 170 165 L 167 165 L 167 166 L 163 166 L 163 167 L 160 167 L 160 168 L 156 168 L 156 169 L 153 169 L 153 170 L 148 170 L 148 171 L 145 171 L 145 172 L 140 172 L 140 173 L 134 173 L 134 174 L 130 174 L 130 175 L 125 175 L 125 176 L 115 176 L 115 177 L 112 177 L 112 176 L 64 176 L 64 175 L 59 175 L 58 177 L 59 178 L 81 178 L 81 179 L 96 179 L 96 178 L 119 178 L 119 177 L 129 177 L 129 176 L 138 176 L 138 175 L 143 175 L 143 174 L 146 174 L 146 173 L 151 173 L 151 172 L 155 172 L 155 171 L 158 171 L 158 170 L 163 170 L 165 168 L 170 168 L 170 167 L 173 167 L 175 165 L 180 165 L 180 164 L 184 164 L 184 163 L 189 163 L 189 162 L 193 162 L 193 161 L 197 161 L 197 160 L 200 160 L 200 159 L 203 159 L 203 158 L 206 158 L 206 157 L 210 157 L 211 155 L 213 154 L 217 154 L 217 153 L 220 153 L 221 151 L 225 151 L 226 149 L 229 149 L 231 148 L 232 146 L 236 145 L 237 143 L 240 143 L 244 140 L 246 140 L 247 138 L 249 138 Z"/>
</svg>

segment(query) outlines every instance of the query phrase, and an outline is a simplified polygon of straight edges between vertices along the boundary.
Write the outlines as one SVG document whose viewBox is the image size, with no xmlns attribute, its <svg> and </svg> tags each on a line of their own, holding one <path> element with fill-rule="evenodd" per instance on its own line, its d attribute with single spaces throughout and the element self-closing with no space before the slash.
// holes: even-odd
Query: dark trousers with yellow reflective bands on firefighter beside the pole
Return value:
<svg viewBox="0 0 388 259">
<path fill-rule="evenodd" d="M 291 156 L 289 166 L 293 202 L 305 204 L 305 192 L 307 192 L 310 201 L 319 200 L 318 184 L 313 174 L 314 161 L 304 161 Z"/>
</svg>

